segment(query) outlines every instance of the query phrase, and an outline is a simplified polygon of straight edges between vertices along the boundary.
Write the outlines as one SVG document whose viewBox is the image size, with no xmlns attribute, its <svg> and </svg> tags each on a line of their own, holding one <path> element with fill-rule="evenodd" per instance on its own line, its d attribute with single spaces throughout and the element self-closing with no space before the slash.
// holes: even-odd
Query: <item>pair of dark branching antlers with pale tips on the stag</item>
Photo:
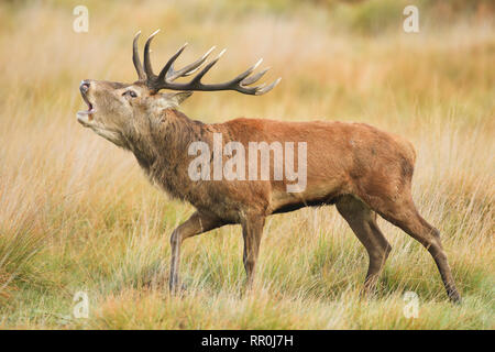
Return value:
<svg viewBox="0 0 495 352">
<path fill-rule="evenodd" d="M 235 78 L 226 81 L 223 84 L 213 84 L 206 85 L 201 82 L 201 78 L 213 67 L 215 64 L 220 59 L 220 57 L 226 53 L 226 50 L 221 51 L 220 54 L 210 63 L 208 63 L 193 79 L 185 84 L 174 82 L 179 77 L 186 77 L 196 73 L 201 65 L 207 61 L 208 56 L 215 50 L 212 46 L 205 55 L 198 58 L 196 62 L 178 69 L 174 69 L 174 63 L 177 57 L 184 52 L 187 46 L 187 43 L 184 44 L 177 53 L 175 53 L 165 66 L 162 68 L 160 74 L 156 76 L 153 73 L 151 61 L 150 61 L 150 43 L 153 37 L 158 33 L 158 31 L 154 32 L 146 41 L 144 45 L 144 66 L 141 65 L 141 61 L 138 53 L 138 38 L 140 37 L 141 31 L 136 33 L 134 36 L 134 41 L 132 43 L 133 55 L 132 61 L 134 63 L 135 69 L 138 72 L 138 76 L 140 80 L 143 80 L 144 84 L 152 90 L 158 91 L 160 89 L 173 89 L 173 90 L 204 90 L 204 91 L 213 91 L 213 90 L 235 90 L 242 92 L 244 95 L 255 95 L 261 96 L 265 92 L 271 91 L 279 81 L 280 78 L 277 78 L 271 85 L 266 86 L 265 84 L 249 87 L 250 85 L 260 80 L 260 78 L 270 69 L 266 68 L 255 75 L 251 75 L 256 67 L 262 63 L 262 58 L 248 68 L 245 72 L 237 76 Z"/>
</svg>

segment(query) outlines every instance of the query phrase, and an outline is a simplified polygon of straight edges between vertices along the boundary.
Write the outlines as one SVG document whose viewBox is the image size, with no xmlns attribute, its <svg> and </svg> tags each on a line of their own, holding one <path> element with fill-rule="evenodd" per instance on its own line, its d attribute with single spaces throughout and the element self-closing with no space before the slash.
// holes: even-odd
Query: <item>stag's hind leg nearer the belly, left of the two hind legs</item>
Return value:
<svg viewBox="0 0 495 352">
<path fill-rule="evenodd" d="M 362 200 L 353 196 L 344 196 L 336 206 L 367 251 L 370 264 L 363 294 L 373 293 L 392 246 L 378 229 L 376 213 Z"/>
</svg>

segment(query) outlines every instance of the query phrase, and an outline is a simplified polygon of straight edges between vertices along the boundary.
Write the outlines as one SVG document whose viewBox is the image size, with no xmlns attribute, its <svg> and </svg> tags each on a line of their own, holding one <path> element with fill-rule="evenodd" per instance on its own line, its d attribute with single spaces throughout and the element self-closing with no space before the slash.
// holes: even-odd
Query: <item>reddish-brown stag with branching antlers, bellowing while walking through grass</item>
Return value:
<svg viewBox="0 0 495 352">
<path fill-rule="evenodd" d="M 376 292 L 378 276 L 392 251 L 378 228 L 380 216 L 425 246 L 437 264 L 448 297 L 453 302 L 461 302 L 440 232 L 420 216 L 413 200 L 416 152 L 410 142 L 365 123 L 245 118 L 204 123 L 189 119 L 178 109 L 193 91 L 231 90 L 261 96 L 271 91 L 280 78 L 267 86 L 254 86 L 267 72 L 253 74 L 260 61 L 231 80 L 205 84 L 204 76 L 224 51 L 207 63 L 213 46 L 197 61 L 175 69 L 174 64 L 187 43 L 156 75 L 151 65 L 150 43 L 158 31 L 145 42 L 143 63 L 138 45 L 141 31 L 134 36 L 132 61 L 136 81 L 85 79 L 80 82 L 79 90 L 88 110 L 79 111 L 77 120 L 82 127 L 130 151 L 147 178 L 172 198 L 194 206 L 196 211 L 170 235 L 170 293 L 180 292 L 183 287 L 180 246 L 186 239 L 227 224 L 240 224 L 246 273 L 243 287 L 250 288 L 268 216 L 334 205 L 367 252 L 363 295 Z M 194 76 L 189 81 L 177 81 L 190 75 Z M 201 141 L 212 147 L 213 135 L 219 133 L 222 143 L 234 141 L 245 146 L 261 141 L 307 143 L 306 187 L 289 193 L 286 186 L 290 180 L 286 178 L 193 180 L 188 169 L 195 155 L 187 152 L 189 145 Z M 274 169 L 270 167 L 272 175 Z"/>
</svg>

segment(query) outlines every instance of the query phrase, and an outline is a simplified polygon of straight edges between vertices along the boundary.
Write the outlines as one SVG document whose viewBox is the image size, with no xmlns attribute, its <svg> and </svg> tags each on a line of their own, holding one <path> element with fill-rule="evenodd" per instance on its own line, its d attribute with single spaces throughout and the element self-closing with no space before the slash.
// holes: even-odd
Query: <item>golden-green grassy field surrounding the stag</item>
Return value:
<svg viewBox="0 0 495 352">
<path fill-rule="evenodd" d="M 417 1 L 414 34 L 403 1 L 81 2 L 88 33 L 73 31 L 78 1 L 0 3 L 0 329 L 495 328 L 488 1 Z M 414 198 L 441 231 L 463 305 L 448 301 L 429 253 L 384 220 L 393 251 L 377 296 L 361 300 L 367 255 L 331 207 L 270 218 L 246 296 L 239 227 L 187 240 L 188 290 L 169 296 L 169 234 L 193 207 L 76 121 L 79 81 L 135 80 L 132 36 L 158 28 L 155 67 L 187 41 L 184 63 L 228 47 L 211 80 L 258 57 L 283 77 L 263 97 L 196 92 L 182 108 L 190 118 L 361 121 L 409 139 Z M 408 290 L 419 296 L 415 319 L 403 312 Z M 77 292 L 87 319 L 73 316 Z"/>
</svg>

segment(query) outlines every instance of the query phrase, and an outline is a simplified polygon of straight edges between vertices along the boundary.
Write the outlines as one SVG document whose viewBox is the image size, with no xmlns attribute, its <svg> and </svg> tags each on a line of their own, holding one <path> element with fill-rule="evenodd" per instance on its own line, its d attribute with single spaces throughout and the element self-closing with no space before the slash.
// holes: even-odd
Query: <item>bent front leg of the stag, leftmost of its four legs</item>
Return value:
<svg viewBox="0 0 495 352">
<path fill-rule="evenodd" d="M 178 271 L 180 263 L 180 244 L 183 241 L 187 238 L 213 230 L 223 224 L 224 222 L 218 218 L 196 211 L 189 219 L 172 232 L 170 278 L 168 282 L 172 293 L 175 293 L 178 288 L 180 288 Z"/>
</svg>

